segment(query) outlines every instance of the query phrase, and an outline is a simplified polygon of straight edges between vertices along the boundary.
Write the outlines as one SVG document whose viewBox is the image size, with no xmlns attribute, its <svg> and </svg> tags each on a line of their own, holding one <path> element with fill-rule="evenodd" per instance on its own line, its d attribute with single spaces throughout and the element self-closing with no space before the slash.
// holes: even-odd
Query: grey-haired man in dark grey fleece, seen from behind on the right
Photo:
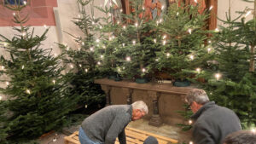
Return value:
<svg viewBox="0 0 256 144">
<path fill-rule="evenodd" d="M 186 101 L 194 113 L 192 136 L 195 144 L 222 144 L 226 135 L 241 130 L 236 113 L 209 101 L 203 89 L 192 89 Z"/>
</svg>

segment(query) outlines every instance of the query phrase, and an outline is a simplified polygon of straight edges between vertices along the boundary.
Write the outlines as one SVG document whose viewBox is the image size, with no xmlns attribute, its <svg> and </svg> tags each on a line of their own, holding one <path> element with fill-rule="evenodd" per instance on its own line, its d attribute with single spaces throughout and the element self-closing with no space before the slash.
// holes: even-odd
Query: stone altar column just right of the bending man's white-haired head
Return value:
<svg viewBox="0 0 256 144">
<path fill-rule="evenodd" d="M 148 91 L 148 96 L 153 99 L 153 115 L 149 120 L 149 124 L 154 126 L 160 126 L 160 124 L 162 124 L 162 119 L 160 118 L 160 115 L 159 115 L 159 106 L 158 106 L 160 92 Z"/>
</svg>

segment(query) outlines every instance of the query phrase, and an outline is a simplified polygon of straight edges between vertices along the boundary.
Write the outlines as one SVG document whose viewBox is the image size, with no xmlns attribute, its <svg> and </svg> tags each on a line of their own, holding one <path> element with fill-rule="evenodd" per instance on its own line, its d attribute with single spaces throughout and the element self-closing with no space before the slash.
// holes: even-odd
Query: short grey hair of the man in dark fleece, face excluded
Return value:
<svg viewBox="0 0 256 144">
<path fill-rule="evenodd" d="M 209 97 L 203 89 L 192 89 L 189 91 L 188 95 L 186 95 L 186 101 L 189 104 L 195 101 L 198 104 L 204 105 L 209 102 Z"/>
</svg>

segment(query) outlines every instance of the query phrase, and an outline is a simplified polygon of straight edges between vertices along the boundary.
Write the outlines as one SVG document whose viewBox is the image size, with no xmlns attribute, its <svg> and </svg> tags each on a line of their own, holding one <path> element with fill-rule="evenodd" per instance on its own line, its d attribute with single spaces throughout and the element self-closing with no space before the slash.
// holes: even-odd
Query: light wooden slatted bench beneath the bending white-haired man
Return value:
<svg viewBox="0 0 256 144">
<path fill-rule="evenodd" d="M 156 135 L 144 130 L 137 130 L 134 128 L 126 127 L 126 143 L 127 144 L 143 144 L 143 141 L 149 136 L 154 136 L 159 144 L 172 144 L 177 143 L 177 140 L 168 138 L 166 136 Z M 79 142 L 79 131 L 75 131 L 72 135 L 64 137 L 65 144 L 80 144 Z M 118 138 L 115 141 L 115 144 L 119 144 Z"/>
</svg>

